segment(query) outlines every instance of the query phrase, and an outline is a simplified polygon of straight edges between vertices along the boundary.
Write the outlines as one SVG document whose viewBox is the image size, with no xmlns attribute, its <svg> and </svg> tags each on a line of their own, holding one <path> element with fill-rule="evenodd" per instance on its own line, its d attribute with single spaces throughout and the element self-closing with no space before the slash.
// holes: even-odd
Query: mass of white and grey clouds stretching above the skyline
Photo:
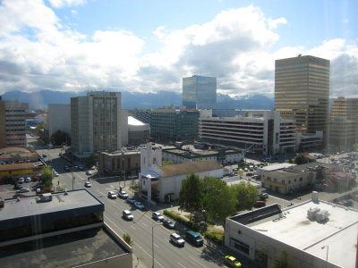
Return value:
<svg viewBox="0 0 358 268">
<path fill-rule="evenodd" d="M 358 40 L 325 40 L 320 46 L 281 47 L 277 28 L 286 18 L 268 18 L 260 8 L 226 10 L 184 29 L 158 26 L 150 38 L 123 29 L 84 35 L 64 24 L 41 0 L 4 0 L 0 5 L 0 93 L 9 90 L 180 92 L 182 78 L 217 77 L 217 91 L 273 95 L 275 60 L 311 54 L 331 61 L 331 96 L 358 92 Z M 50 1 L 55 8 L 84 1 Z M 71 10 L 70 10 L 71 12 Z M 355 71 L 355 72 L 354 72 Z"/>
</svg>

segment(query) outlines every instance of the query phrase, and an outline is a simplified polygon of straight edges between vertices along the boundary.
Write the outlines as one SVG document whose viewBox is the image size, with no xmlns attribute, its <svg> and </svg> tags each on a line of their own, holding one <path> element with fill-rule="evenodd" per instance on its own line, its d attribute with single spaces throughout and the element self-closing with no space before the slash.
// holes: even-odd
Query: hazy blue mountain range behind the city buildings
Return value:
<svg viewBox="0 0 358 268">
<path fill-rule="evenodd" d="M 85 96 L 87 92 L 60 92 L 41 90 L 33 93 L 10 91 L 3 95 L 4 100 L 18 100 L 29 103 L 30 108 L 46 108 L 49 104 L 70 104 L 72 96 Z M 181 105 L 182 94 L 171 91 L 158 93 L 122 92 L 122 108 L 160 108 L 165 105 Z M 218 109 L 265 109 L 274 108 L 273 97 L 264 95 L 245 95 L 232 98 L 224 94 L 217 94 Z"/>
</svg>

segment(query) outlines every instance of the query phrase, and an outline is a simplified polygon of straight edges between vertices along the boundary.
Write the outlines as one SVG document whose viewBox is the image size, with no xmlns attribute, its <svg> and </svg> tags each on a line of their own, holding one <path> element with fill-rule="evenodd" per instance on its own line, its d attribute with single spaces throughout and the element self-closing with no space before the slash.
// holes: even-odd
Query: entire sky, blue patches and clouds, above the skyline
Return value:
<svg viewBox="0 0 358 268">
<path fill-rule="evenodd" d="M 0 94 L 93 88 L 273 96 L 275 60 L 330 61 L 330 96 L 358 97 L 356 0 L 0 0 Z"/>
</svg>

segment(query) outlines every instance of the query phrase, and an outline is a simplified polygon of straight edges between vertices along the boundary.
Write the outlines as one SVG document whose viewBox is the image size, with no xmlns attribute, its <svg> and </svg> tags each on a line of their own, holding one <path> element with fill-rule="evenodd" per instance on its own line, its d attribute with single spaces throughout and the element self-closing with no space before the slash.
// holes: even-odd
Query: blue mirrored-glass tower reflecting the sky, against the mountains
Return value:
<svg viewBox="0 0 358 268">
<path fill-rule="evenodd" d="M 199 75 L 183 78 L 183 105 L 193 109 L 215 109 L 217 78 Z"/>
</svg>

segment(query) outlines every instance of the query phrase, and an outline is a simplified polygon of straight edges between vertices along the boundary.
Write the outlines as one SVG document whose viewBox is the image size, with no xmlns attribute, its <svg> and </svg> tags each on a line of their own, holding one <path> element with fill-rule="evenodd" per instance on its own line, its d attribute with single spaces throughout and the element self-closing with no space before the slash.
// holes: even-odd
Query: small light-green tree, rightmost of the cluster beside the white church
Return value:
<svg viewBox="0 0 358 268">
<path fill-rule="evenodd" d="M 259 190 L 251 183 L 241 182 L 231 187 L 234 197 L 237 200 L 237 209 L 251 209 L 252 205 L 257 201 Z"/>
</svg>

